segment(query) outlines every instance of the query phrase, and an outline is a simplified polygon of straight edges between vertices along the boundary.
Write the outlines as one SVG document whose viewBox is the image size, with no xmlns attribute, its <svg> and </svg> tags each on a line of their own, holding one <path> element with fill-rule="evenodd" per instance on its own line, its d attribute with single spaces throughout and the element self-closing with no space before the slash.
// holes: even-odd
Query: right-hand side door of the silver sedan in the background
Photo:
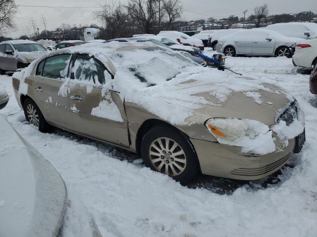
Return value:
<svg viewBox="0 0 317 237">
<path fill-rule="evenodd" d="M 270 38 L 271 40 L 266 40 Z M 275 40 L 265 32 L 258 32 L 254 35 L 252 43 L 252 54 L 271 55 L 274 52 Z"/>
</svg>

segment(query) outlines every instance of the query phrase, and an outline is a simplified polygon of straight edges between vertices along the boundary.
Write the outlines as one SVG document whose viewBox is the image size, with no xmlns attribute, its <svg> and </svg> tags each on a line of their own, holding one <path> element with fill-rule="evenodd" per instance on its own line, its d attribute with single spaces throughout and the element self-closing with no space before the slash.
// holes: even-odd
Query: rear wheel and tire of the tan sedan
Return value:
<svg viewBox="0 0 317 237">
<path fill-rule="evenodd" d="M 37 126 L 40 132 L 47 132 L 50 129 L 50 125 L 45 120 L 39 107 L 36 105 L 36 103 L 32 99 L 27 98 L 24 101 L 23 110 L 24 110 L 24 116 L 26 120 L 30 124 Z"/>
</svg>

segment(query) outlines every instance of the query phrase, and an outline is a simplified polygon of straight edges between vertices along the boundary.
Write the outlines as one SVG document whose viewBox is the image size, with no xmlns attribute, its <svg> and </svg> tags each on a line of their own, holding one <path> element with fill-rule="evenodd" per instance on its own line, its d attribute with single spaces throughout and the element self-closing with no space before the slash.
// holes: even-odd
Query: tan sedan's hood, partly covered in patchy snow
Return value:
<svg viewBox="0 0 317 237">
<path fill-rule="evenodd" d="M 203 75 L 196 75 L 199 78 Z M 230 80 L 241 80 L 241 83 L 259 83 L 256 79 L 230 76 Z M 280 87 L 269 83 L 261 86 L 246 86 L 243 88 L 225 88 L 221 83 L 205 83 L 195 78 L 180 82 L 181 93 L 190 93 L 208 101 L 193 111 L 193 115 L 186 118 L 186 123 L 200 120 L 205 122 L 209 118 L 239 118 L 260 121 L 268 126 L 275 124 L 275 118 L 294 98 Z M 249 87 L 249 88 L 248 88 Z M 258 88 L 257 88 L 258 87 Z M 263 88 L 261 88 L 263 87 Z M 197 93 L 196 93 L 197 92 Z"/>
</svg>

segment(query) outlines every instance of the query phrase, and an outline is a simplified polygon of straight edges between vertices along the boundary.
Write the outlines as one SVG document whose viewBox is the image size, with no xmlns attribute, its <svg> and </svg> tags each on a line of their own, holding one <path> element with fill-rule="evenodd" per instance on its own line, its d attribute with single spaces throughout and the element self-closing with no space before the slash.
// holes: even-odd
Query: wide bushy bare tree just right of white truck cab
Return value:
<svg viewBox="0 0 317 237">
<path fill-rule="evenodd" d="M 133 26 L 127 8 L 119 5 L 105 4 L 100 11 L 95 12 L 95 17 L 103 23 L 103 29 L 99 34 L 100 39 L 114 39 L 128 37 L 133 32 Z"/>
</svg>

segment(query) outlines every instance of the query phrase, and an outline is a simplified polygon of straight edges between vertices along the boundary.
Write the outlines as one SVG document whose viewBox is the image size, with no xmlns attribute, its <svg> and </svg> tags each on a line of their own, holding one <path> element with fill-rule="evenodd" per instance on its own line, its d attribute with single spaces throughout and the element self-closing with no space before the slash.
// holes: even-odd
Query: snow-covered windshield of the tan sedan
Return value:
<svg viewBox="0 0 317 237">
<path fill-rule="evenodd" d="M 117 51 L 109 55 L 116 74 L 154 86 L 175 78 L 187 67 L 199 67 L 179 53 L 159 47 Z"/>
</svg>

